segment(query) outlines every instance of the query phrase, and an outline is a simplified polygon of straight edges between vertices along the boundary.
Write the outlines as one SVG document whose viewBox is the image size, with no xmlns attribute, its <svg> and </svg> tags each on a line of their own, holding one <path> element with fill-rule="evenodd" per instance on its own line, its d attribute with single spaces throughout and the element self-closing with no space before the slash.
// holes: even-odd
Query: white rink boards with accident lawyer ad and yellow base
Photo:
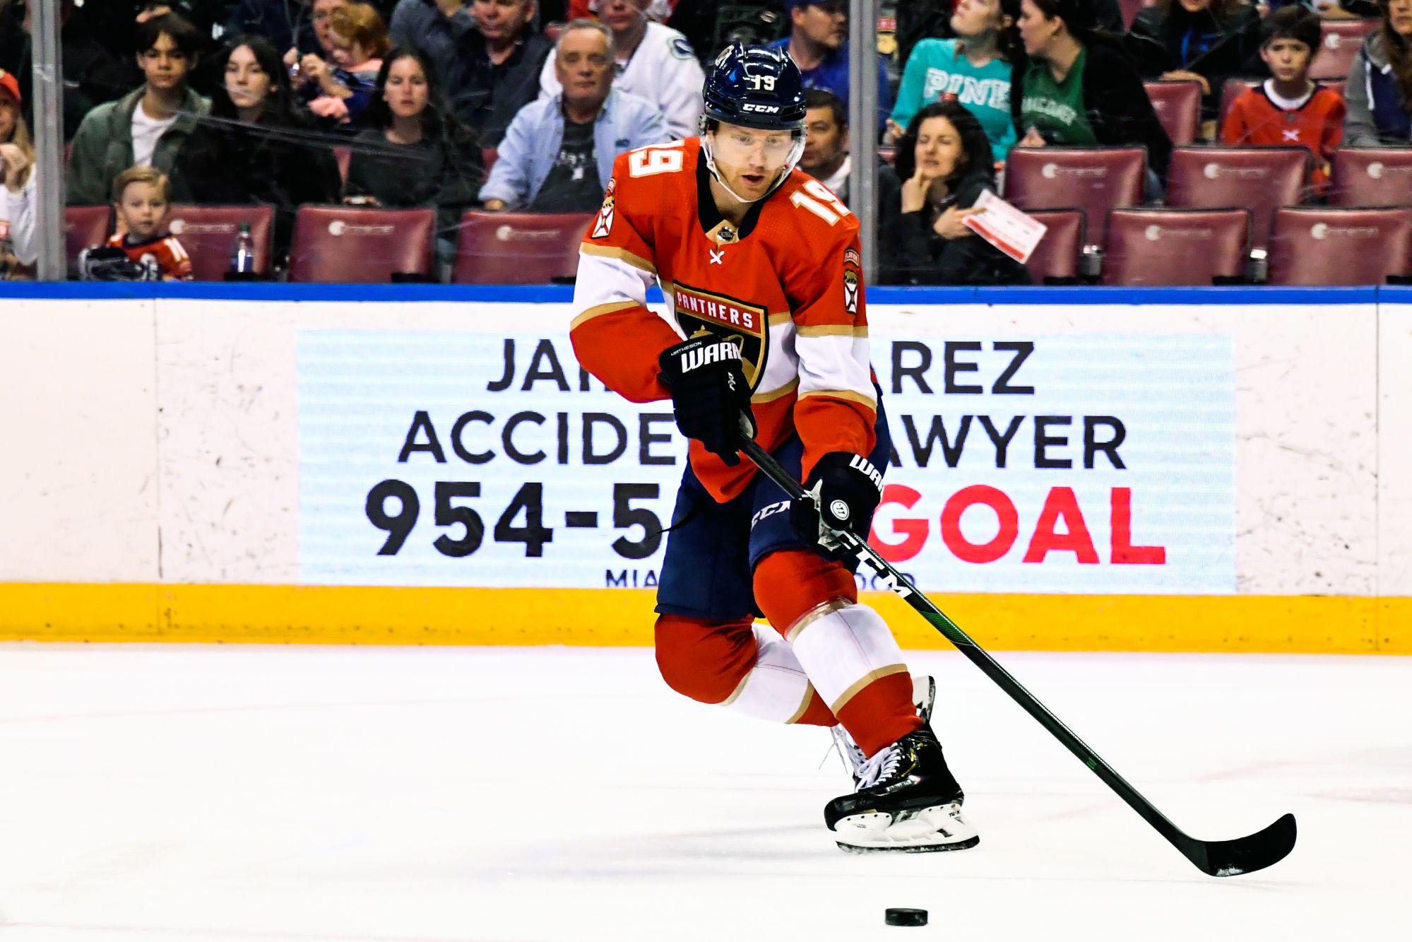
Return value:
<svg viewBox="0 0 1412 942">
<path fill-rule="evenodd" d="M 650 644 L 685 442 L 579 370 L 569 298 L 6 287 L 0 637 Z M 874 541 L 981 643 L 1412 651 L 1408 290 L 868 314 Z"/>
</svg>

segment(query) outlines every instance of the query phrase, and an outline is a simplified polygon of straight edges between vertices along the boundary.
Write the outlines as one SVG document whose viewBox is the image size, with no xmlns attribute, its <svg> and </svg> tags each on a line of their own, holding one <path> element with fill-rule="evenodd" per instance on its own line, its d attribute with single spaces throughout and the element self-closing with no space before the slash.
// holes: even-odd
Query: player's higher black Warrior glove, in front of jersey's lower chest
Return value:
<svg viewBox="0 0 1412 942">
<path fill-rule="evenodd" d="M 750 383 L 741 369 L 740 347 L 703 335 L 666 347 L 657 359 L 672 390 L 676 428 L 695 438 L 727 465 L 738 465 L 746 436 L 755 435 L 750 412 Z M 748 421 L 748 431 L 741 425 Z"/>
</svg>

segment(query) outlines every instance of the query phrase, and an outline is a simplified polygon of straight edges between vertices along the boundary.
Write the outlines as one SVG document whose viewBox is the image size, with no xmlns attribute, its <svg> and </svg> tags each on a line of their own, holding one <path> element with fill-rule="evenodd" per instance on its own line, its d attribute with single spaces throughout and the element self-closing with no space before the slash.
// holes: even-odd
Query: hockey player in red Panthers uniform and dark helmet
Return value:
<svg viewBox="0 0 1412 942">
<path fill-rule="evenodd" d="M 690 439 L 657 595 L 668 685 L 767 720 L 842 726 L 857 791 L 825 808 L 840 847 L 969 847 L 979 837 L 928 726 L 929 695 L 919 716 L 897 641 L 858 604 L 829 537 L 867 537 L 890 439 L 858 223 L 795 169 L 803 114 L 788 55 L 720 54 L 700 137 L 616 161 L 580 247 L 573 347 L 626 398 L 671 400 Z M 669 319 L 645 306 L 654 281 Z M 815 500 L 791 503 L 743 462 L 744 435 Z"/>
</svg>

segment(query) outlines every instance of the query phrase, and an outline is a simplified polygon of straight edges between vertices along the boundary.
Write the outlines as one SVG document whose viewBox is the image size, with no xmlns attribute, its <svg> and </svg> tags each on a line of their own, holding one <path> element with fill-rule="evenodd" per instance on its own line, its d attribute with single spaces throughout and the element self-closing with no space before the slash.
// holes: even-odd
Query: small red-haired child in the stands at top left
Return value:
<svg viewBox="0 0 1412 942">
<path fill-rule="evenodd" d="M 373 100 L 377 73 L 391 42 L 387 27 L 367 3 L 352 3 L 333 10 L 329 18 L 333 68 L 316 55 L 304 56 L 301 68 L 323 92 L 309 102 L 309 110 L 319 117 L 357 124 Z"/>
</svg>

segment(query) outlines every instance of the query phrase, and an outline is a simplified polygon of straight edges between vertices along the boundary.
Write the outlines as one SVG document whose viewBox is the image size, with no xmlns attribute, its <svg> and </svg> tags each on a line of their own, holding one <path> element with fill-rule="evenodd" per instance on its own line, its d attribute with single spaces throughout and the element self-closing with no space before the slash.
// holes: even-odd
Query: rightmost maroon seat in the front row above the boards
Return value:
<svg viewBox="0 0 1412 942">
<path fill-rule="evenodd" d="M 1412 275 L 1412 209 L 1275 210 L 1269 284 L 1381 285 Z"/>
</svg>

